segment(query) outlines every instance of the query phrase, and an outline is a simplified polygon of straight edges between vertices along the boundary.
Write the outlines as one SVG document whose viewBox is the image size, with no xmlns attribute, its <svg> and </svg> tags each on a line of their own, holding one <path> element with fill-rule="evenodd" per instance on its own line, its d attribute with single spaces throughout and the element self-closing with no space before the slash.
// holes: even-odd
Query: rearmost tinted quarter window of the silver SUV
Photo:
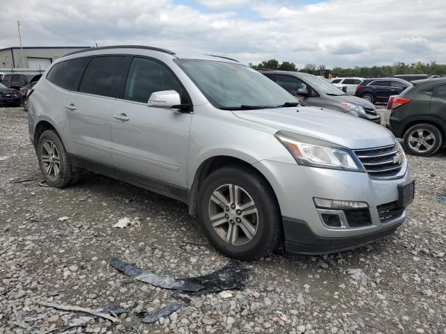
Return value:
<svg viewBox="0 0 446 334">
<path fill-rule="evenodd" d="M 88 61 L 89 58 L 76 58 L 56 64 L 49 70 L 47 79 L 61 88 L 72 90 L 72 86 L 82 74 Z"/>
</svg>

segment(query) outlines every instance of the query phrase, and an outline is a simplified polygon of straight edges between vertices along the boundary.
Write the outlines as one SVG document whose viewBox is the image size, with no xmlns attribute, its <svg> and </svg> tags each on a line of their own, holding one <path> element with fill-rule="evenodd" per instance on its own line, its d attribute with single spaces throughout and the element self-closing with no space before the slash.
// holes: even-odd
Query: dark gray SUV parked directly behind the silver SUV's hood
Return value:
<svg viewBox="0 0 446 334">
<path fill-rule="evenodd" d="M 349 113 L 353 116 L 371 120 L 376 124 L 381 122 L 374 104 L 359 97 L 346 95 L 330 82 L 313 74 L 271 70 L 259 70 L 259 72 L 310 106 L 321 106 Z"/>
</svg>

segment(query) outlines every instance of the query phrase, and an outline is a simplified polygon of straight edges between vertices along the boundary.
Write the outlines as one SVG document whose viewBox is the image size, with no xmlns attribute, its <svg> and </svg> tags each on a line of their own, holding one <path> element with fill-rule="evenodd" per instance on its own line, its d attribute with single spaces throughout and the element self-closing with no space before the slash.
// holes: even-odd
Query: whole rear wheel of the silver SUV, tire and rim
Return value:
<svg viewBox="0 0 446 334">
<path fill-rule="evenodd" d="M 37 155 L 47 184 L 64 188 L 75 183 L 77 173 L 73 171 L 65 146 L 55 130 L 47 130 L 40 136 Z"/>
</svg>

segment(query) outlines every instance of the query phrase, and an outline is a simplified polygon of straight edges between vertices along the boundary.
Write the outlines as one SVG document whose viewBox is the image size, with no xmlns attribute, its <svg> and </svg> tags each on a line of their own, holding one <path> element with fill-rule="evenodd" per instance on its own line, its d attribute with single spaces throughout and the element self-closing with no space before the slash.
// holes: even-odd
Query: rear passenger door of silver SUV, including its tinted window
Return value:
<svg viewBox="0 0 446 334">
<path fill-rule="evenodd" d="M 75 91 L 66 97 L 66 136 L 72 154 L 112 167 L 110 112 L 118 87 L 125 84 L 129 56 L 95 56 Z M 77 91 L 76 91 L 77 90 Z"/>
</svg>

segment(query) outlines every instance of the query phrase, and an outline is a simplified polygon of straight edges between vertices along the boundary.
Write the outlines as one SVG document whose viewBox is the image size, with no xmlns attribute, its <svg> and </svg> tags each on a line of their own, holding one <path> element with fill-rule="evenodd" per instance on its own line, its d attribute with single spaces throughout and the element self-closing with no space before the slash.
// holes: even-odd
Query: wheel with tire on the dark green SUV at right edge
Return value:
<svg viewBox="0 0 446 334">
<path fill-rule="evenodd" d="M 436 153 L 441 148 L 442 142 L 440 130 L 428 123 L 413 125 L 404 133 L 404 148 L 410 154 L 420 157 Z"/>
</svg>

